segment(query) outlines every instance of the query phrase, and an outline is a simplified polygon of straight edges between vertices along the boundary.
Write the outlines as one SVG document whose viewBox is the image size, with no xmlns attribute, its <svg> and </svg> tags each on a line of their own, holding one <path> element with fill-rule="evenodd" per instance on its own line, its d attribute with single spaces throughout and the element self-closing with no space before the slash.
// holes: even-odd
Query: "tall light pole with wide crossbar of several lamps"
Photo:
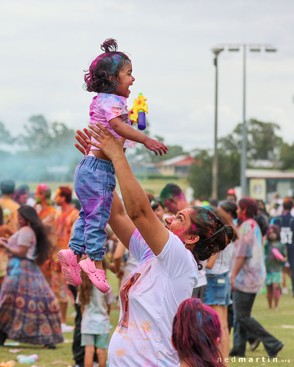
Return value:
<svg viewBox="0 0 294 367">
<path fill-rule="evenodd" d="M 268 44 L 260 43 L 237 43 L 237 44 L 222 44 L 219 46 L 222 50 L 227 48 L 230 52 L 239 51 L 243 49 L 243 118 L 242 118 L 242 142 L 241 142 L 241 169 L 240 169 L 240 186 L 241 195 L 246 196 L 246 164 L 247 164 L 247 121 L 246 121 L 246 56 L 247 49 L 256 53 L 260 52 L 262 48 L 265 52 L 274 53 L 277 51 L 275 47 Z"/>
</svg>

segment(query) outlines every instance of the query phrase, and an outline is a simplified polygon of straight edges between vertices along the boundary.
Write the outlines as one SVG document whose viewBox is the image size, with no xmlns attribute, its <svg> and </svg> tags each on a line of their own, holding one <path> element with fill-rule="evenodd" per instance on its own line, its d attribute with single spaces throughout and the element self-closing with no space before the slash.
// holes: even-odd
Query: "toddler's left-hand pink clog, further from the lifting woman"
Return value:
<svg viewBox="0 0 294 367">
<path fill-rule="evenodd" d="M 75 286 L 82 284 L 82 278 L 80 276 L 81 267 L 74 251 L 70 248 L 67 250 L 60 250 L 57 256 L 61 263 L 61 271 L 66 281 Z"/>
</svg>

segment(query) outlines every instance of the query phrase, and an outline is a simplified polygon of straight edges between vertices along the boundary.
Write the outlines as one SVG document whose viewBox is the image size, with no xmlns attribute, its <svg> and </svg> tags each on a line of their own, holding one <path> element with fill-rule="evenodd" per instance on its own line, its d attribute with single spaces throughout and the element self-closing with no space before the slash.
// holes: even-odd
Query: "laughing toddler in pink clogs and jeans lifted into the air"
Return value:
<svg viewBox="0 0 294 367">
<path fill-rule="evenodd" d="M 105 126 L 117 139 L 127 140 L 124 148 L 134 147 L 135 142 L 162 155 L 167 147 L 154 139 L 138 132 L 131 126 L 127 110 L 129 87 L 135 78 L 129 57 L 117 51 L 114 39 L 107 39 L 102 45 L 104 53 L 99 55 L 85 74 L 85 89 L 97 93 L 90 105 L 90 123 Z M 95 141 L 94 138 L 91 139 Z M 99 143 L 99 142 L 98 142 Z M 75 191 L 82 205 L 74 234 L 69 241 L 69 249 L 61 250 L 58 258 L 62 273 L 72 285 L 82 282 L 81 268 L 92 283 L 101 291 L 107 292 L 102 258 L 107 233 L 105 226 L 110 217 L 110 208 L 115 189 L 114 168 L 109 158 L 94 146 L 76 168 L 74 176 Z M 80 261 L 81 256 L 88 257 Z"/>
</svg>

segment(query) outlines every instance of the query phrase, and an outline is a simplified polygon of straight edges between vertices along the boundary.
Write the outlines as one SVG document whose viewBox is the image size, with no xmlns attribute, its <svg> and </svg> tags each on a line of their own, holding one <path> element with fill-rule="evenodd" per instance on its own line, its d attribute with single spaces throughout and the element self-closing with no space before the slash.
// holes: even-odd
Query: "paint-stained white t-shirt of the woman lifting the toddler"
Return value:
<svg viewBox="0 0 294 367">
<path fill-rule="evenodd" d="M 110 367 L 180 365 L 171 345 L 175 314 L 198 282 L 198 266 L 172 232 L 161 253 L 154 255 L 137 229 L 130 255 L 139 264 L 120 289 L 120 317 L 108 348 Z"/>
</svg>

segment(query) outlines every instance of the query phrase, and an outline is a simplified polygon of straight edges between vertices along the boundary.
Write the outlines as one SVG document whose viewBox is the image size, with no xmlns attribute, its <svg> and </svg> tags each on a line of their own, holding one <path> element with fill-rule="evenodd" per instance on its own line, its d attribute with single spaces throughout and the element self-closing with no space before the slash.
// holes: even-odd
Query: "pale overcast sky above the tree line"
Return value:
<svg viewBox="0 0 294 367">
<path fill-rule="evenodd" d="M 214 66 L 222 43 L 265 43 L 248 53 L 247 117 L 276 122 L 294 141 L 292 0 L 38 0 L 0 2 L 0 121 L 21 132 L 32 115 L 88 124 L 84 69 L 115 38 L 130 54 L 128 106 L 149 103 L 150 130 L 187 150 L 213 145 Z M 242 54 L 219 56 L 219 136 L 242 120 Z"/>
</svg>

